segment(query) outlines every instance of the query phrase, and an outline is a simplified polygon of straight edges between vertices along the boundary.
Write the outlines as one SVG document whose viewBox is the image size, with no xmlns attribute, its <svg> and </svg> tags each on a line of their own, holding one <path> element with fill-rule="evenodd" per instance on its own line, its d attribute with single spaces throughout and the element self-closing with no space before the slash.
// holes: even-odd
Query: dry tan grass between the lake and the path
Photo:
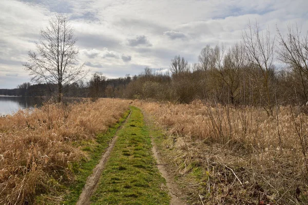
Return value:
<svg viewBox="0 0 308 205">
<path fill-rule="evenodd" d="M 73 179 L 72 164 L 86 157 L 75 142 L 107 131 L 128 104 L 120 99 L 46 104 L 0 117 L 0 204 L 23 204 Z"/>
</svg>

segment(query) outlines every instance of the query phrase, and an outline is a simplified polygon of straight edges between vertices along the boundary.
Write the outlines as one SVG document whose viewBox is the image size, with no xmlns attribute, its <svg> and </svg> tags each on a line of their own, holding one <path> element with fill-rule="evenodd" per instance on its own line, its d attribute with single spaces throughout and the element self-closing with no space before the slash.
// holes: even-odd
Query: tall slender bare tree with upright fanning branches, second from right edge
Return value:
<svg viewBox="0 0 308 205">
<path fill-rule="evenodd" d="M 271 69 L 274 58 L 274 42 L 275 37 L 272 39 L 269 30 L 266 29 L 265 35 L 260 31 L 258 23 L 253 26 L 249 22 L 248 30 L 242 34 L 246 56 L 252 66 L 256 66 L 262 73 L 263 86 L 266 93 L 265 110 L 268 115 L 272 114 L 272 100 L 269 91 L 269 80 L 271 77 Z"/>
</svg>

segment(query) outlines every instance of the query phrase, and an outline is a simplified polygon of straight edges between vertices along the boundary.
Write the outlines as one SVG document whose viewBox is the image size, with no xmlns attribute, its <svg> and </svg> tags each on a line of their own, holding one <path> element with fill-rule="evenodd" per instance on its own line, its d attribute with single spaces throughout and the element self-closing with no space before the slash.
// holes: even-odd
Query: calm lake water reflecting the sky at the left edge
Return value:
<svg viewBox="0 0 308 205">
<path fill-rule="evenodd" d="M 0 114 L 8 115 L 18 111 L 18 109 L 40 107 L 42 100 L 37 97 L 16 97 L 0 95 Z"/>
</svg>

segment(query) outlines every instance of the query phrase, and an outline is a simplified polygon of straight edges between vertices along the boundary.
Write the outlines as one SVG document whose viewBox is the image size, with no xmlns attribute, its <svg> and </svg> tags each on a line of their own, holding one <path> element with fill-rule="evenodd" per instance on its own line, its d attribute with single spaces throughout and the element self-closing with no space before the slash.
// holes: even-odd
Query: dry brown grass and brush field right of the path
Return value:
<svg viewBox="0 0 308 205">
<path fill-rule="evenodd" d="M 308 116 L 298 107 L 262 109 L 135 105 L 166 130 L 164 147 L 192 201 L 202 204 L 307 204 Z M 296 189 L 300 194 L 296 193 Z"/>
</svg>

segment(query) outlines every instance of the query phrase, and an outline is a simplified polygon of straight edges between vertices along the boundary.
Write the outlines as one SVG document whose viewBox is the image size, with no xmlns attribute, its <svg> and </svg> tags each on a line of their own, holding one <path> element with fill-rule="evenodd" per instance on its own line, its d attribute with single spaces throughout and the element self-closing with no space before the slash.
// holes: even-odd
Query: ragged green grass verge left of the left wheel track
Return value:
<svg viewBox="0 0 308 205">
<path fill-rule="evenodd" d="M 75 204 L 85 186 L 86 180 L 89 175 L 92 174 L 94 167 L 98 164 L 101 159 L 102 153 L 106 150 L 109 142 L 117 132 L 117 129 L 121 126 L 122 122 L 126 119 L 129 114 L 129 110 L 126 111 L 123 117 L 113 127 L 109 128 L 106 133 L 97 135 L 95 141 L 80 141 L 76 142 L 75 146 L 82 146 L 82 150 L 85 151 L 90 159 L 83 159 L 81 163 L 75 163 L 72 166 L 73 174 L 75 175 L 74 183 L 63 186 L 61 192 L 64 192 L 64 199 L 60 204 Z M 46 202 L 48 196 L 38 196 L 36 198 L 36 204 L 54 204 L 55 202 Z"/>
</svg>

